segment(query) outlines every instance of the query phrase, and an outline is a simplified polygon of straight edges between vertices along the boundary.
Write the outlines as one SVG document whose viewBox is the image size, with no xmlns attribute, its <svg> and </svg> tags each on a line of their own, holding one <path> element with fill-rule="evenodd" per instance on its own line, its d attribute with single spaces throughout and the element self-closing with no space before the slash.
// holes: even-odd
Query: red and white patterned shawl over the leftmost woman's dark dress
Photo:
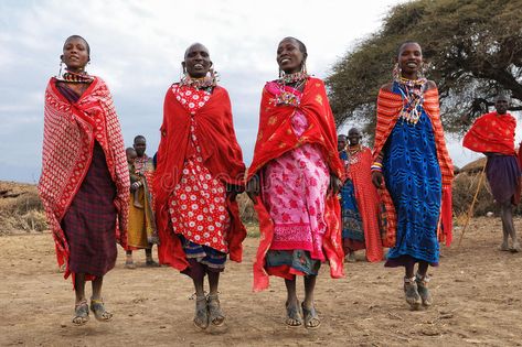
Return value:
<svg viewBox="0 0 522 347">
<path fill-rule="evenodd" d="M 76 102 L 68 101 L 51 78 L 45 90 L 42 174 L 39 193 L 53 231 L 58 265 L 68 269 L 70 247 L 60 225 L 87 174 L 95 140 L 105 153 L 116 185 L 116 240 L 127 246 L 129 170 L 124 137 L 107 85 L 95 77 Z"/>
</svg>

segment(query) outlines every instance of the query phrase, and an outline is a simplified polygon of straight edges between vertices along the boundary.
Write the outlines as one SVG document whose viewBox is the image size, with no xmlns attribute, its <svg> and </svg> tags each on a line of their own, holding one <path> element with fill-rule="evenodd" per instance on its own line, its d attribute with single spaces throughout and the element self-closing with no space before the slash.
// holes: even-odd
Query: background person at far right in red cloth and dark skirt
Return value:
<svg viewBox="0 0 522 347">
<path fill-rule="evenodd" d="M 498 96 L 494 112 L 479 117 L 464 137 L 464 147 L 488 156 L 486 176 L 493 198 L 500 205 L 502 243 L 500 250 L 520 252 L 521 247 L 513 225 L 512 205 L 520 200 L 521 170 L 514 151 L 516 120 L 508 113 L 510 99 Z M 509 247 L 511 236 L 512 246 Z"/>
</svg>

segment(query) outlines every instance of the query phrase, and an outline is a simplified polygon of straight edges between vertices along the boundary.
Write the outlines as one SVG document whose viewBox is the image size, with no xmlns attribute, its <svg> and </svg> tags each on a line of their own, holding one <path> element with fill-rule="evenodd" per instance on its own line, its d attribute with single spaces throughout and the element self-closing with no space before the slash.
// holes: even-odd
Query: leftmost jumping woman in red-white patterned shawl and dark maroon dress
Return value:
<svg viewBox="0 0 522 347">
<path fill-rule="evenodd" d="M 113 98 L 105 83 L 85 72 L 89 46 L 77 35 L 65 41 L 66 69 L 45 90 L 42 175 L 39 192 L 65 278 L 76 294 L 73 324 L 88 321 L 85 281 L 93 281 L 90 310 L 98 321 L 113 315 L 102 300 L 104 275 L 126 246 L 129 172 Z"/>
</svg>

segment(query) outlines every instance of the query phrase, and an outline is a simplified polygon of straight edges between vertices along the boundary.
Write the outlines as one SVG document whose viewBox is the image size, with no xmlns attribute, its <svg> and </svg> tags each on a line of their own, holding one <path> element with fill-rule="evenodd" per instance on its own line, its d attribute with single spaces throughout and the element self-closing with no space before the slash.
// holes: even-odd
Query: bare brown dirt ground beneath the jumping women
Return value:
<svg viewBox="0 0 522 347">
<path fill-rule="evenodd" d="M 522 231 L 522 219 L 515 226 Z M 192 325 L 191 281 L 163 267 L 116 269 L 105 281 L 105 301 L 115 318 L 72 326 L 74 292 L 58 273 L 49 232 L 0 237 L 1 346 L 521 346 L 522 253 L 498 250 L 499 218 L 475 219 L 462 242 L 444 249 L 430 271 L 435 305 L 411 312 L 403 273 L 382 263 L 349 264 L 347 278 L 321 269 L 316 305 L 318 330 L 284 325 L 285 289 L 252 293 L 252 259 L 258 239 L 245 242 L 244 262 L 228 263 L 221 283 L 227 324 L 198 330 Z M 459 231 L 456 231 L 459 237 Z M 362 260 L 363 254 L 359 254 Z M 139 264 L 142 252 L 136 254 Z M 300 281 L 301 292 L 302 285 Z M 89 291 L 88 291 L 89 292 Z"/>
</svg>

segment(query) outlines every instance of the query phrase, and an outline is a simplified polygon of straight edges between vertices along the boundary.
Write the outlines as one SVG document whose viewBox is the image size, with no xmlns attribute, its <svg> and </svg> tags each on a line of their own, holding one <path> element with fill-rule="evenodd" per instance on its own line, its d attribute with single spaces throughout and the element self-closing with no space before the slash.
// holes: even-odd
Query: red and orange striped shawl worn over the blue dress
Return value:
<svg viewBox="0 0 522 347">
<path fill-rule="evenodd" d="M 377 97 L 377 123 L 375 127 L 375 145 L 373 148 L 374 160 L 381 154 L 386 143 L 387 137 L 392 133 L 398 120 L 401 110 L 404 107 L 403 98 L 400 94 L 381 88 Z M 451 210 L 451 183 L 454 180 L 454 164 L 449 158 L 444 139 L 443 122 L 440 121 L 440 108 L 438 90 L 429 89 L 424 94 L 424 110 L 432 121 L 435 135 L 435 148 L 437 150 L 437 161 L 443 176 L 443 198 L 440 207 L 440 223 L 437 230 L 439 241 L 445 241 L 449 246 L 452 240 L 452 210 Z M 397 215 L 393 206 L 392 196 L 384 187 L 380 188 L 381 199 L 385 206 L 386 236 L 383 238 L 384 247 L 394 247 L 397 231 Z"/>
</svg>

